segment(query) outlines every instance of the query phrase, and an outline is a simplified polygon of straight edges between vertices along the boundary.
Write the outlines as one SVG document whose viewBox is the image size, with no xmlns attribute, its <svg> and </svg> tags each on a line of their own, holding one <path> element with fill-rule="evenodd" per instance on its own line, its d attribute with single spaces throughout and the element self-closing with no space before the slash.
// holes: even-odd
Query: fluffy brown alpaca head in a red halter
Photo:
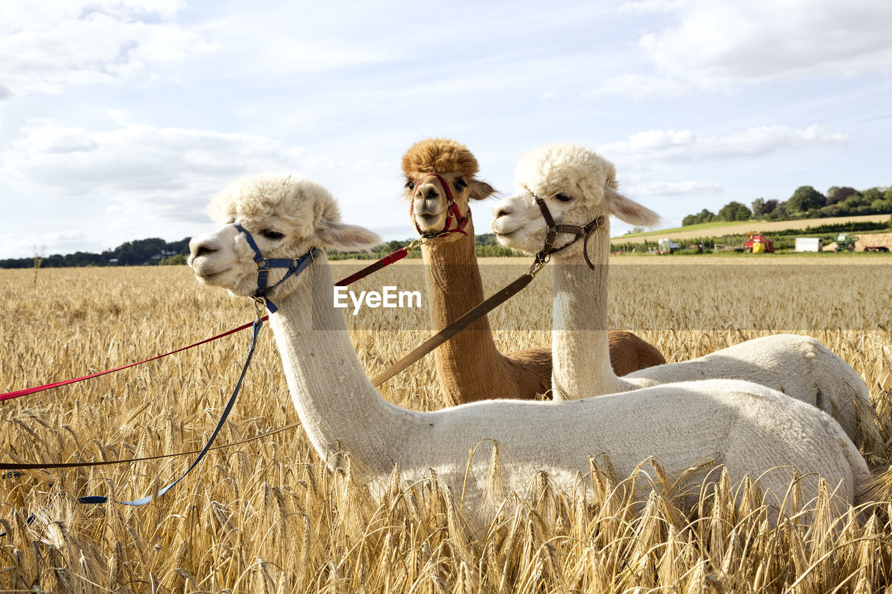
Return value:
<svg viewBox="0 0 892 594">
<path fill-rule="evenodd" d="M 458 208 L 458 215 L 469 216 L 468 202 L 483 200 L 493 194 L 492 186 L 477 179 L 479 166 L 467 146 L 448 138 L 428 138 L 412 144 L 402 156 L 402 172 L 406 176 L 404 196 L 412 202 L 413 224 L 422 233 L 444 231 L 449 216 L 449 197 L 446 188 L 432 174 L 443 178 Z M 431 177 L 428 177 L 431 176 Z M 456 217 L 450 229 L 458 227 Z M 450 241 L 458 234 L 442 236 Z"/>
</svg>

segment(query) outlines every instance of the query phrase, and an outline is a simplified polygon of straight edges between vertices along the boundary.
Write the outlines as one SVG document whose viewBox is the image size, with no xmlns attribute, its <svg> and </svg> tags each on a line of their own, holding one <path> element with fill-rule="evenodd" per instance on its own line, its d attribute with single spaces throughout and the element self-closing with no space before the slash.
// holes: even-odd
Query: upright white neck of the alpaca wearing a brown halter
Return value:
<svg viewBox="0 0 892 594">
<path fill-rule="evenodd" d="M 582 243 L 582 240 L 579 240 Z M 554 256 L 554 309 L 551 330 L 551 372 L 555 398 L 581 399 L 624 392 L 632 386 L 610 367 L 607 335 L 607 221 L 589 238 L 591 270 L 582 252 Z"/>
</svg>

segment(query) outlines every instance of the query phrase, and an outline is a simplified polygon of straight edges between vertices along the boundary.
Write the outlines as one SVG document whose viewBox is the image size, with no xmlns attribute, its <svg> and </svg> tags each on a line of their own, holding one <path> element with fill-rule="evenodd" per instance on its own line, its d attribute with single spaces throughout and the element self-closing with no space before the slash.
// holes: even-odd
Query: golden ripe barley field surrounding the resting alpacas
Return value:
<svg viewBox="0 0 892 594">
<path fill-rule="evenodd" d="M 335 277 L 359 268 L 333 264 Z M 527 266 L 483 260 L 487 293 Z M 618 258 L 611 326 L 669 361 L 764 334 L 811 334 L 871 389 L 871 471 L 892 463 L 892 258 Z M 359 289 L 424 292 L 405 260 Z M 249 301 L 198 285 L 186 267 L 0 270 L 0 392 L 86 375 L 170 351 L 251 321 Z M 426 300 L 424 301 L 426 303 Z M 546 268 L 491 314 L 502 351 L 550 343 Z M 369 375 L 430 333 L 421 309 L 345 312 Z M 250 337 L 228 336 L 111 375 L 0 402 L 4 460 L 98 461 L 202 447 L 241 369 Z M 433 358 L 381 387 L 406 408 L 442 407 Z M 266 328 L 218 443 L 298 421 Z M 560 435 L 531 431 L 530 439 Z M 54 592 L 882 592 L 892 588 L 892 499 L 827 520 L 826 498 L 767 521 L 751 483 L 714 473 L 714 490 L 682 507 L 670 480 L 643 502 L 593 458 L 594 499 L 552 491 L 508 498 L 480 525 L 437 483 L 393 478 L 376 505 L 359 471 L 328 473 L 293 428 L 212 450 L 143 507 L 78 505 L 82 495 L 136 499 L 192 457 L 4 474 L 0 591 Z M 888 491 L 888 490 L 887 490 Z M 739 495 L 739 497 L 738 497 Z M 796 497 L 795 486 L 791 495 Z M 739 506 L 734 500 L 739 499 Z M 30 524 L 26 521 L 34 515 Z"/>
</svg>

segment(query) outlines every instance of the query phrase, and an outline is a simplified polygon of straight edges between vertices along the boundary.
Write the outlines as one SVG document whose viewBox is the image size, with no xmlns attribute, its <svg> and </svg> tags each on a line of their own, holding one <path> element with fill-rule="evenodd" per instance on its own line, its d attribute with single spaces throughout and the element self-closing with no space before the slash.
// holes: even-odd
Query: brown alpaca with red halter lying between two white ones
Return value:
<svg viewBox="0 0 892 594">
<path fill-rule="evenodd" d="M 421 251 L 431 301 L 431 326 L 441 330 L 483 301 L 483 281 L 477 268 L 474 223 L 470 200 L 494 193 L 477 179 L 479 166 L 467 146 L 454 140 L 434 138 L 413 144 L 402 157 L 406 198 L 412 204 L 413 224 L 425 234 L 436 234 L 449 224 L 463 225 L 465 234 L 453 232 L 429 239 Z M 458 209 L 448 212 L 448 196 L 437 177 L 450 186 Z M 459 220 L 457 220 L 459 219 Z M 467 219 L 462 222 L 460 219 Z M 665 363 L 648 342 L 635 334 L 610 330 L 610 363 L 616 375 Z M 533 399 L 551 389 L 551 348 L 536 347 L 503 355 L 492 341 L 489 321 L 481 318 L 434 351 L 443 399 L 450 406 L 475 400 Z"/>
</svg>

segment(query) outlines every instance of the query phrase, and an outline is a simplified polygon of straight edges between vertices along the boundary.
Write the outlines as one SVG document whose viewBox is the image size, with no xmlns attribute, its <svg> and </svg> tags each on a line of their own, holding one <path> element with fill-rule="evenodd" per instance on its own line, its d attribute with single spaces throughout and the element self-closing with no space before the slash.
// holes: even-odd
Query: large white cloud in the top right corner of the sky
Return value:
<svg viewBox="0 0 892 594">
<path fill-rule="evenodd" d="M 635 2 L 621 12 L 673 12 L 640 37 L 663 77 L 703 88 L 778 78 L 892 71 L 892 3 L 875 0 Z"/>
</svg>

